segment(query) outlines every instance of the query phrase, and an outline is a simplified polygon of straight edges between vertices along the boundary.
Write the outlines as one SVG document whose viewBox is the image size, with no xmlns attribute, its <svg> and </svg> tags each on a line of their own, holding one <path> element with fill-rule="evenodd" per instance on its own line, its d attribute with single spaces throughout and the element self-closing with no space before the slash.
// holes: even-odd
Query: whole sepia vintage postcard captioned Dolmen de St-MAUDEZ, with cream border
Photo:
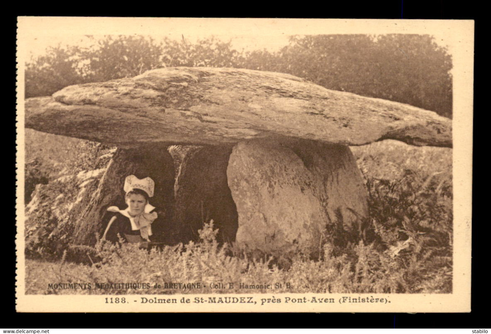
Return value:
<svg viewBox="0 0 491 334">
<path fill-rule="evenodd" d="M 469 312 L 473 21 L 19 17 L 17 311 Z"/>
</svg>

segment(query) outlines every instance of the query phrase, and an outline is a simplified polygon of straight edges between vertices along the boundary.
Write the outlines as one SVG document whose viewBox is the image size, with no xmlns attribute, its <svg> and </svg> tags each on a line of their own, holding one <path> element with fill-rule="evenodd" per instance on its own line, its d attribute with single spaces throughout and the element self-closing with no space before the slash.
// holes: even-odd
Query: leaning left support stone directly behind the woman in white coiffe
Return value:
<svg viewBox="0 0 491 334">
<path fill-rule="evenodd" d="M 150 203 L 159 218 L 153 223 L 154 237 L 171 242 L 178 230 L 171 223 L 173 214 L 174 166 L 165 147 L 118 149 L 99 182 L 94 198 L 75 223 L 75 243 L 94 244 L 95 233 L 102 235 L 109 217 L 109 206 L 125 208 L 123 185 L 128 175 L 150 177 L 155 181 L 155 194 Z"/>
</svg>

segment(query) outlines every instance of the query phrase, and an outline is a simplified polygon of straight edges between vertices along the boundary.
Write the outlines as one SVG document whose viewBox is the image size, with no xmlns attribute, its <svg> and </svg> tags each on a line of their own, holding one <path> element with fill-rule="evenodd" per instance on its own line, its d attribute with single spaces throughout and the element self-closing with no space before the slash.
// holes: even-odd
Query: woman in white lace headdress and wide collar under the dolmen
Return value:
<svg viewBox="0 0 491 334">
<path fill-rule="evenodd" d="M 109 220 L 103 238 L 109 241 L 118 241 L 118 234 L 127 242 L 150 241 L 152 235 L 151 224 L 157 219 L 155 207 L 148 203 L 153 197 L 154 181 L 150 178 L 139 180 L 135 175 L 125 179 L 123 187 L 128 206 L 120 210 L 117 206 L 110 206 L 108 211 L 116 214 Z"/>
</svg>

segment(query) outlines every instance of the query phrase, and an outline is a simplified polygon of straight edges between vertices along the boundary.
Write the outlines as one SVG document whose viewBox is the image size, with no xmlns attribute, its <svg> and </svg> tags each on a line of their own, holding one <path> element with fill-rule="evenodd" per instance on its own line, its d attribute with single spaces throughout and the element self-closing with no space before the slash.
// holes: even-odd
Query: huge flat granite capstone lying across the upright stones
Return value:
<svg viewBox="0 0 491 334">
<path fill-rule="evenodd" d="M 234 144 L 276 136 L 451 147 L 451 120 L 408 104 L 328 90 L 287 74 L 163 68 L 26 101 L 26 127 L 118 147 Z"/>
</svg>

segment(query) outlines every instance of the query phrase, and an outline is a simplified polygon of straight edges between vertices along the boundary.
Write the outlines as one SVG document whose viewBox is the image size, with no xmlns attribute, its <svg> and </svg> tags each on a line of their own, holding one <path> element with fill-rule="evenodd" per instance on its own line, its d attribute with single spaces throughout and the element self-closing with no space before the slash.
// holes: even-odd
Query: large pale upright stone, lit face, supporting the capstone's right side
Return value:
<svg viewBox="0 0 491 334">
<path fill-rule="evenodd" d="M 264 252 L 316 251 L 326 226 L 368 215 L 350 149 L 308 140 L 252 140 L 233 148 L 227 169 L 237 205 L 237 242 Z"/>
</svg>

